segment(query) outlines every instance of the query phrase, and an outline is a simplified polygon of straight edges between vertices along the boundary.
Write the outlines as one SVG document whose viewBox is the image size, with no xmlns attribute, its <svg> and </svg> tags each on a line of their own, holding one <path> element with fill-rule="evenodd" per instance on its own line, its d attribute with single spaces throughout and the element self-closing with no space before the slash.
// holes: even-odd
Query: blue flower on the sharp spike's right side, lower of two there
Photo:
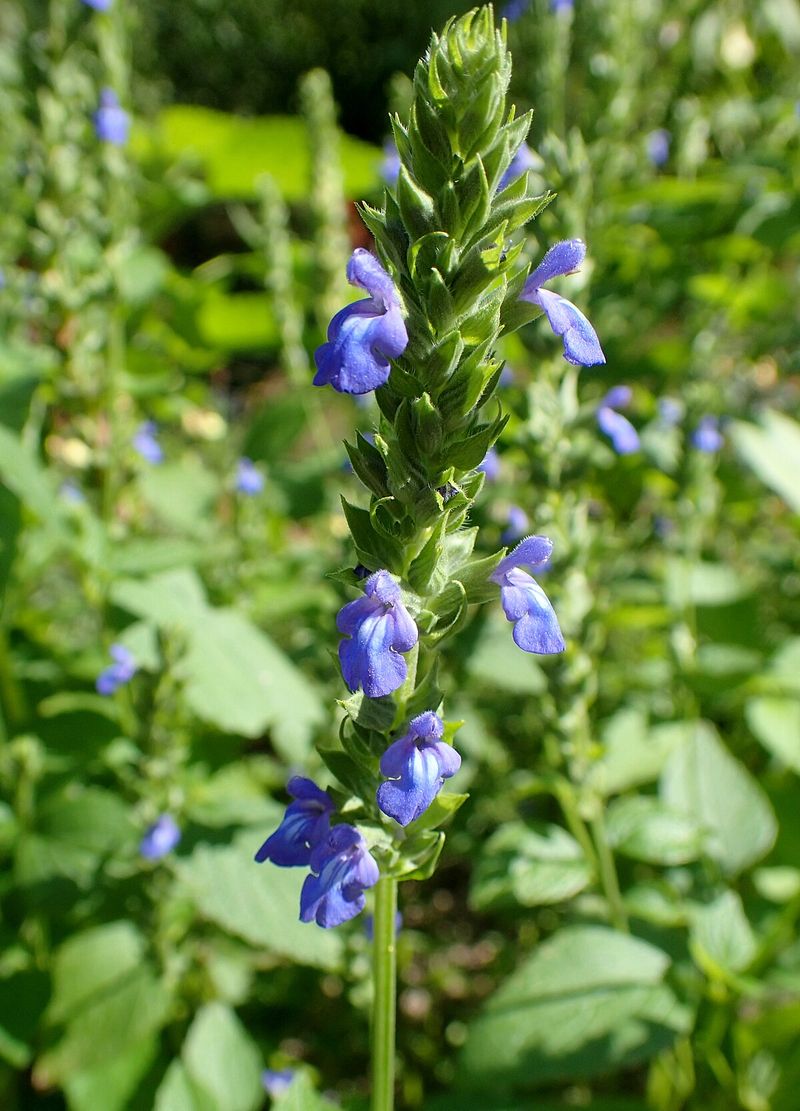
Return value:
<svg viewBox="0 0 800 1111">
<path fill-rule="evenodd" d="M 541 569 L 550 559 L 552 540 L 527 537 L 500 560 L 489 577 L 500 587 L 500 601 L 509 621 L 514 622 L 513 639 L 523 652 L 550 655 L 563 652 L 564 640 L 558 618 L 538 582 L 521 568 Z"/>
</svg>

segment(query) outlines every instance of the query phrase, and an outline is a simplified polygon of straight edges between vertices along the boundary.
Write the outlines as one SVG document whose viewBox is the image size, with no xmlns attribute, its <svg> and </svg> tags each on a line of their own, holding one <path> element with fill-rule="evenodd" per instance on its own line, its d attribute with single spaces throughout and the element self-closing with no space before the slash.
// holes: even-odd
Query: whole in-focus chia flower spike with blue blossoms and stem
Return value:
<svg viewBox="0 0 800 1111">
<path fill-rule="evenodd" d="M 584 244 L 557 243 L 532 271 L 523 258 L 522 229 L 551 197 L 534 192 L 519 157 L 531 116 L 507 108 L 510 74 L 491 8 L 433 36 L 408 124 L 392 120 L 397 179 L 381 209 L 360 209 L 377 253 L 356 250 L 347 277 L 369 296 L 336 313 L 314 357 L 316 386 L 374 391 L 379 409 L 373 441 L 346 443 L 369 494 L 363 507 L 342 499 L 357 565 L 334 575 L 356 595 L 337 618 L 351 693 L 320 749 L 339 785 L 291 780 L 294 801 L 257 860 L 309 867 L 301 919 L 324 928 L 358 914 L 374 888 L 373 1111 L 393 1107 L 398 883 L 431 875 L 440 827 L 467 799 L 442 793 L 460 767 L 438 680 L 442 645 L 472 607 L 499 600 L 522 651 L 564 650 L 530 574 L 551 541 L 474 554 L 469 514 L 508 421 L 496 347 L 543 311 L 569 362 L 604 362 L 586 317 L 546 288 L 580 266 Z"/>
</svg>

